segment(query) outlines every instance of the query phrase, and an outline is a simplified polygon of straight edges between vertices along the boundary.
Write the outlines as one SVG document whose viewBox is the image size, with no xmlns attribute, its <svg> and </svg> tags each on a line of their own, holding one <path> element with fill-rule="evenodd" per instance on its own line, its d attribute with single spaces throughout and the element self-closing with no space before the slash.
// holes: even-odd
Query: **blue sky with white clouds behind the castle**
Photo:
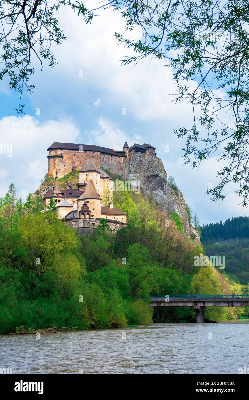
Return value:
<svg viewBox="0 0 249 400">
<path fill-rule="evenodd" d="M 205 193 L 210 184 L 219 182 L 215 175 L 221 166 L 215 157 L 198 170 L 182 165 L 184 139 L 177 139 L 173 130 L 191 126 L 192 113 L 189 104 L 173 102 L 171 68 L 153 59 L 121 66 L 129 51 L 118 45 L 114 33 L 124 31 L 124 21 L 114 10 L 101 10 L 98 15 L 85 25 L 72 10 L 60 12 L 67 39 L 54 46 L 55 68 L 44 62 L 41 71 L 34 60 L 36 89 L 23 96 L 24 115 L 14 109 L 18 94 L 9 90 L 7 82 L 0 82 L 0 143 L 7 144 L 7 150 L 11 146 L 12 153 L 0 154 L 0 196 L 10 183 L 22 198 L 38 188 L 48 171 L 46 149 L 53 142 L 121 150 L 127 140 L 129 146 L 146 142 L 157 148 L 167 175 L 175 178 L 201 225 L 247 215 L 234 186 L 225 188 L 227 196 L 220 203 L 211 202 Z"/>
</svg>

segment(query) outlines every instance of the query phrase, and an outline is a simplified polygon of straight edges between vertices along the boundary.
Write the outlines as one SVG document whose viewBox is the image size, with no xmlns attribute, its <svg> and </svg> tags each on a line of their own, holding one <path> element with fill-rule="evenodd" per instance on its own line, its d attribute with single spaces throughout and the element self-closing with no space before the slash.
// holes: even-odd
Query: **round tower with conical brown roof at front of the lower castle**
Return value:
<svg viewBox="0 0 249 400">
<path fill-rule="evenodd" d="M 90 218 L 100 218 L 100 195 L 94 186 L 92 179 L 88 181 L 86 189 L 77 199 L 77 216 L 79 218 L 82 206 L 86 203 L 90 210 Z M 84 210 L 82 210 L 84 211 Z"/>
</svg>

